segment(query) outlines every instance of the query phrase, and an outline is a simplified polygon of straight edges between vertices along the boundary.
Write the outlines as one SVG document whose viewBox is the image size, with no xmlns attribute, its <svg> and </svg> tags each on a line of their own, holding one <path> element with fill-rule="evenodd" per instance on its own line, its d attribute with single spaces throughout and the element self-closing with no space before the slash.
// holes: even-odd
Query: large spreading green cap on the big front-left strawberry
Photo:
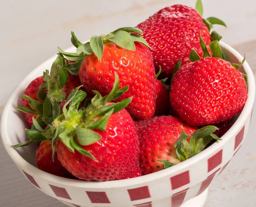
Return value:
<svg viewBox="0 0 256 207">
<path fill-rule="evenodd" d="M 55 118 L 47 129 L 42 129 L 39 124 L 35 123 L 33 135 L 30 135 L 27 130 L 29 138 L 33 141 L 52 139 L 53 155 L 56 141 L 60 138 L 71 152 L 77 150 L 95 160 L 95 157 L 81 146 L 100 140 L 102 136 L 93 129 L 105 131 L 110 116 L 124 109 L 132 100 L 132 98 L 126 98 L 120 102 L 111 103 L 128 90 L 128 86 L 119 89 L 119 77 L 116 72 L 115 75 L 113 89 L 108 95 L 102 97 L 98 91 L 93 91 L 94 98 L 87 99 L 82 107 L 81 101 L 86 97 L 86 93 L 79 90 L 81 86 L 73 89 L 64 104 L 63 114 Z"/>
</svg>

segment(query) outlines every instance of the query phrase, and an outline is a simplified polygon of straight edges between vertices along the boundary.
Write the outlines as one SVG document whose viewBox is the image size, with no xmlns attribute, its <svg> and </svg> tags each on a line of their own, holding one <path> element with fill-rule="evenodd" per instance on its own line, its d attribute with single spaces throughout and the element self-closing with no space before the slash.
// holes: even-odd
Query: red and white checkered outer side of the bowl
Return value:
<svg viewBox="0 0 256 207">
<path fill-rule="evenodd" d="M 183 202 L 198 196 L 227 167 L 230 159 L 239 150 L 250 124 L 247 118 L 237 135 L 230 138 L 222 149 L 215 150 L 192 166 L 142 186 L 127 188 L 86 189 L 49 183 L 23 170 L 28 180 L 49 196 L 73 207 L 179 207 Z"/>
</svg>

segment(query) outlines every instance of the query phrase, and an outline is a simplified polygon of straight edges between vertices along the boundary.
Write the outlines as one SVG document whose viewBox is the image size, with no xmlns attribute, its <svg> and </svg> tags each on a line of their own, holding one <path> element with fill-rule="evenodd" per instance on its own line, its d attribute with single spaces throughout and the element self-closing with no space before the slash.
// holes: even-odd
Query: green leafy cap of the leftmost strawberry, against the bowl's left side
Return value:
<svg viewBox="0 0 256 207">
<path fill-rule="evenodd" d="M 38 115 L 37 121 L 50 125 L 53 119 L 60 115 L 61 108 L 59 105 L 66 97 L 61 89 L 67 81 L 68 72 L 65 69 L 67 63 L 68 60 L 63 55 L 58 54 L 50 72 L 49 70 L 44 72 L 44 83 L 41 83 L 37 93 L 41 101 L 32 99 L 28 95 L 22 95 L 20 98 L 25 98 L 31 109 L 26 106 L 19 106 L 17 109 L 25 113 Z"/>
</svg>

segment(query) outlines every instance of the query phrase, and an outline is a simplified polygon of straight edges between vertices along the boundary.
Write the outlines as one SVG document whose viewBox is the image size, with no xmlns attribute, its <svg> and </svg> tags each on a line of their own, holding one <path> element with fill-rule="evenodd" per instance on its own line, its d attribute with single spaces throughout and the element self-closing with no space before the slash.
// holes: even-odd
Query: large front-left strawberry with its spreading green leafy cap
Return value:
<svg viewBox="0 0 256 207">
<path fill-rule="evenodd" d="M 129 113 L 124 109 L 132 100 L 112 101 L 128 90 L 119 88 L 116 78 L 112 91 L 102 97 L 95 92 L 83 107 L 86 93 L 74 89 L 63 107 L 63 114 L 43 130 L 34 119 L 37 130 L 27 129 L 32 140 L 52 139 L 61 164 L 74 176 L 87 181 L 107 181 L 142 175 L 139 166 L 139 141 Z M 67 109 L 67 105 L 69 105 Z M 22 146 L 31 143 L 21 144 Z M 20 144 L 13 146 L 20 147 Z"/>
</svg>

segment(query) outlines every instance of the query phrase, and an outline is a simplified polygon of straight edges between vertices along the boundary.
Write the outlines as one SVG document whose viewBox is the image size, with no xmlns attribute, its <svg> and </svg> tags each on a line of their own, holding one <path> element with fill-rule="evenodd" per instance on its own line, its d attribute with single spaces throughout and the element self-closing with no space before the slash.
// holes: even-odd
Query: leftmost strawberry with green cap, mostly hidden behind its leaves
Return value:
<svg viewBox="0 0 256 207">
<path fill-rule="evenodd" d="M 17 107 L 17 109 L 25 113 L 29 126 L 33 125 L 33 117 L 39 121 L 41 126 L 44 126 L 44 122 L 51 124 L 53 118 L 58 117 L 61 113 L 70 92 L 81 86 L 79 76 L 72 75 L 64 69 L 66 62 L 59 55 L 52 64 L 50 72 L 52 78 L 47 70 L 44 72 L 44 76 L 33 80 L 26 88 L 24 95 L 21 96 L 23 106 Z M 87 98 L 92 98 L 92 96 L 88 95 Z"/>
</svg>

